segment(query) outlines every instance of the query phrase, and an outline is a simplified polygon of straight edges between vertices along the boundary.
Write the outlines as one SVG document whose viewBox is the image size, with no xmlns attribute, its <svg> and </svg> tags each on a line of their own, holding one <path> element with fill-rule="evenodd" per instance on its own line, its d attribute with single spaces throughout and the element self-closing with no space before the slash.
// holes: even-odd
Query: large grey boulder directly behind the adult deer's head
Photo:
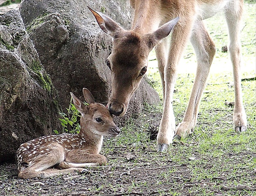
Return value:
<svg viewBox="0 0 256 196">
<path fill-rule="evenodd" d="M 111 92 L 110 70 L 105 61 L 112 40 L 100 30 L 87 6 L 102 11 L 124 28 L 130 26 L 128 0 L 24 0 L 20 5 L 24 24 L 63 109 L 69 105 L 69 92 L 81 97 L 83 87 L 104 104 Z M 158 100 L 158 94 L 143 79 L 130 101 L 128 114 L 139 113 L 143 102 Z"/>
</svg>

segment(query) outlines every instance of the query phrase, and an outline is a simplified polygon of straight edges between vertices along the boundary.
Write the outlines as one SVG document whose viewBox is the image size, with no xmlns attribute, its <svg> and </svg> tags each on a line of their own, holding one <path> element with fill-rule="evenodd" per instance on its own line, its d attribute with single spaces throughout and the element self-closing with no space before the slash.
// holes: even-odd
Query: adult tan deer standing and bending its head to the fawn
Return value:
<svg viewBox="0 0 256 196">
<path fill-rule="evenodd" d="M 174 136 L 181 138 L 190 134 L 197 121 L 199 102 L 215 55 L 215 45 L 202 20 L 223 10 L 228 23 L 234 72 L 234 130 L 245 131 L 247 121 L 241 94 L 239 42 L 243 0 L 130 0 L 130 4 L 135 10 L 131 30 L 124 30 L 106 15 L 89 8 L 100 28 L 113 37 L 113 51 L 107 60 L 112 70 L 112 93 L 108 101 L 110 112 L 117 116 L 126 113 L 129 100 L 147 70 L 148 54 L 156 46 L 164 95 L 157 150 L 165 151 Z M 171 41 L 164 39 L 172 30 Z M 187 110 L 175 129 L 171 101 L 178 62 L 189 38 L 197 56 L 197 70 Z"/>
</svg>

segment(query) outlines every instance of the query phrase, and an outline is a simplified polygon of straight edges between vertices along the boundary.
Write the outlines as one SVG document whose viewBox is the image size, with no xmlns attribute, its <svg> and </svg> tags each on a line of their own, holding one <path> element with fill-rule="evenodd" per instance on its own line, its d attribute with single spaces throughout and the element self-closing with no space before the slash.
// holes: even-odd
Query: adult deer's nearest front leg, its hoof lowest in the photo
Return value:
<svg viewBox="0 0 256 196">
<path fill-rule="evenodd" d="M 189 18 L 189 17 L 188 17 Z M 190 17 L 191 18 L 191 17 Z M 157 151 L 165 151 L 172 142 L 175 130 L 175 117 L 171 104 L 174 92 L 174 85 L 177 78 L 177 65 L 190 36 L 193 21 L 181 21 L 175 26 L 171 36 L 171 46 L 169 58 L 164 68 L 165 96 L 163 105 L 163 115 L 157 134 Z M 184 24 L 185 23 L 185 24 Z"/>
</svg>

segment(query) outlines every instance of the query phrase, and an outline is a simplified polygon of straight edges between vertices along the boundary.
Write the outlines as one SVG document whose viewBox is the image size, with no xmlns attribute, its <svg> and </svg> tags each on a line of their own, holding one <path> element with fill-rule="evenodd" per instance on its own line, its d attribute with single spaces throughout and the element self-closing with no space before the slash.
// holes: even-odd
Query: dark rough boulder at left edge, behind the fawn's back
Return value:
<svg viewBox="0 0 256 196">
<path fill-rule="evenodd" d="M 21 143 L 61 130 L 59 104 L 18 11 L 0 15 L 0 163 Z"/>
</svg>

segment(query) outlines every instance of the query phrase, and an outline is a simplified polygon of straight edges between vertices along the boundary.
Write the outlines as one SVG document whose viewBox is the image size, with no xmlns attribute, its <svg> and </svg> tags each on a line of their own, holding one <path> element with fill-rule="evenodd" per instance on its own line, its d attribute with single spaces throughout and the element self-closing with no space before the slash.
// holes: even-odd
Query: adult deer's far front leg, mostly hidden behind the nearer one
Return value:
<svg viewBox="0 0 256 196">
<path fill-rule="evenodd" d="M 164 75 L 164 69 L 167 64 L 167 38 L 163 39 L 161 43 L 159 43 L 155 47 L 156 51 L 156 59 L 158 63 L 158 70 L 162 81 L 162 87 L 163 87 L 163 100 L 165 99 L 165 75 Z"/>
</svg>

